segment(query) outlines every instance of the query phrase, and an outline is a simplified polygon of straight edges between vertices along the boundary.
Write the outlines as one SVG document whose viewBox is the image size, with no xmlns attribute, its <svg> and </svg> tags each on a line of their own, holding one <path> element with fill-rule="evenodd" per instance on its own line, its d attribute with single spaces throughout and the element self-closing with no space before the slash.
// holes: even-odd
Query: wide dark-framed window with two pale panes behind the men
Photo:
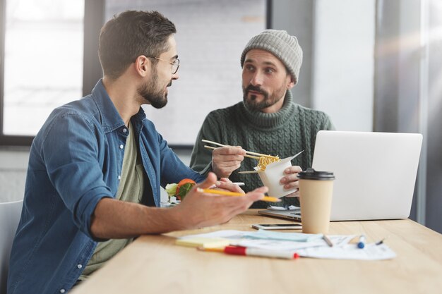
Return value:
<svg viewBox="0 0 442 294">
<path fill-rule="evenodd" d="M 145 111 L 169 145 L 193 145 L 210 111 L 241 101 L 241 52 L 268 27 L 269 6 L 270 0 L 6 0 L 0 145 L 30 145 L 52 109 L 92 90 L 101 78 L 100 27 L 128 9 L 157 10 L 177 25 L 180 78 L 164 109 Z"/>
</svg>

